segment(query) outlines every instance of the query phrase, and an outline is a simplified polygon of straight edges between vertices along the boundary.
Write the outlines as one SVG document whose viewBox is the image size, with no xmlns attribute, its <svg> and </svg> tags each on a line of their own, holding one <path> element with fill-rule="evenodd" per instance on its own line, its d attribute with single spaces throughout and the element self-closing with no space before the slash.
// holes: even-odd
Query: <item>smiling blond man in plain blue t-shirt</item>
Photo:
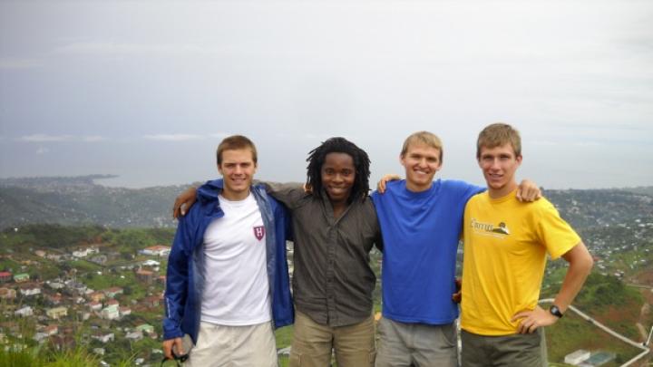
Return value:
<svg viewBox="0 0 653 367">
<path fill-rule="evenodd" d="M 409 136 L 400 159 L 406 179 L 372 194 L 385 244 L 375 365 L 457 366 L 456 252 L 465 204 L 485 188 L 434 181 L 443 146 L 431 132 Z M 521 192 L 527 198 L 540 194 L 532 184 L 518 197 Z"/>
</svg>

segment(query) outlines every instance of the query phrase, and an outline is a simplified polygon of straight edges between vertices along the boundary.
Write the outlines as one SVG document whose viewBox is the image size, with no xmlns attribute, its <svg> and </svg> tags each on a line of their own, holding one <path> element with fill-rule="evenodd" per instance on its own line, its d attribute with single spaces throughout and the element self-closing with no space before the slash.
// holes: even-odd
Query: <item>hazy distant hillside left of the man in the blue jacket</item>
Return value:
<svg viewBox="0 0 653 367">
<path fill-rule="evenodd" d="M 34 223 L 106 227 L 174 227 L 172 199 L 183 186 L 107 188 L 100 175 L 0 179 L 0 230 Z"/>
</svg>

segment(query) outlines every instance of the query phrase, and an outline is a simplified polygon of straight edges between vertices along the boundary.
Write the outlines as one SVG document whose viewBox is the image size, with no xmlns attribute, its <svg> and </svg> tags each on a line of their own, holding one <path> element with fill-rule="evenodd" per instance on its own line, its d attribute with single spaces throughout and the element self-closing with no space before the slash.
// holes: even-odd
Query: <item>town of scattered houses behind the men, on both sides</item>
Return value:
<svg viewBox="0 0 653 367">
<path fill-rule="evenodd" d="M 635 237 L 653 236 L 653 223 L 634 229 Z M 619 270 L 619 254 L 627 254 L 629 249 L 618 246 L 594 251 L 598 270 L 622 277 L 646 268 L 651 261 L 648 248 L 634 257 L 632 266 Z M 89 244 L 70 251 L 33 247 L 28 253 L 0 255 L 0 265 L 11 268 L 0 271 L 0 344 L 24 348 L 49 343 L 63 349 L 83 343 L 100 358 L 101 365 L 125 358 L 131 358 L 133 365 L 161 362 L 161 302 L 170 251 L 170 246 L 145 246 L 135 249 L 132 258 L 126 260 L 113 246 Z M 288 253 L 292 270 L 291 243 Z M 374 252 L 372 261 L 380 271 L 381 254 Z M 551 263 L 548 277 L 559 263 Z M 48 266 L 60 270 L 54 276 L 44 276 Z M 650 280 L 653 282 L 653 277 Z M 288 345 L 279 345 L 279 354 L 287 355 Z M 580 349 L 567 353 L 564 363 L 581 367 L 619 365 L 615 359 L 616 353 L 610 351 Z M 607 364 L 610 362 L 613 364 Z"/>
</svg>

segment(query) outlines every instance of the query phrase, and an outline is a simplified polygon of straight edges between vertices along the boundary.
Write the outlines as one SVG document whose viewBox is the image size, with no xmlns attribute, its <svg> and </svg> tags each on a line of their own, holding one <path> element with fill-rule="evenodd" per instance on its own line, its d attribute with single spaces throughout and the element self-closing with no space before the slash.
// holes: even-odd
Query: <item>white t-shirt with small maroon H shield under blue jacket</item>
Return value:
<svg viewBox="0 0 653 367">
<path fill-rule="evenodd" d="M 204 233 L 206 279 L 201 321 L 220 325 L 262 324 L 272 319 L 266 237 L 256 199 L 219 196 L 224 217 Z"/>
</svg>

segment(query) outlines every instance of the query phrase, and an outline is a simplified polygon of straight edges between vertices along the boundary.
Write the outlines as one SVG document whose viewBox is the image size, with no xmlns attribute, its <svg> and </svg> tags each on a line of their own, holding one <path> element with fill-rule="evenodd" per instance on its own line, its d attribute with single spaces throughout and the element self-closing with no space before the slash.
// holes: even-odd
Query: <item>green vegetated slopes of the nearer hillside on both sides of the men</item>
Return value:
<svg viewBox="0 0 653 367">
<path fill-rule="evenodd" d="M 40 286 L 41 294 L 19 295 L 14 300 L 0 303 L 0 333 L 5 333 L 5 337 L 12 342 L 25 343 L 30 348 L 38 348 L 39 343 L 34 338 L 37 337 L 39 330 L 56 323 L 59 326 L 58 335 L 63 339 L 68 337 L 66 335 L 74 335 L 74 333 L 81 333 L 83 339 L 87 341 L 91 339 L 90 342 L 78 345 L 81 349 L 76 349 L 77 353 L 87 353 L 88 358 L 95 359 L 95 362 L 89 365 L 99 365 L 100 356 L 93 352 L 98 348 L 104 351 L 102 359 L 107 362 L 117 363 L 134 358 L 142 358 L 151 363 L 160 361 L 160 353 L 154 351 L 159 349 L 161 343 L 162 305 L 146 304 L 146 302 L 152 297 L 160 300 L 163 284 L 156 279 L 165 275 L 166 258 L 144 256 L 140 250 L 147 246 L 170 244 L 172 237 L 172 228 L 112 229 L 100 226 L 30 225 L 18 230 L 5 229 L 0 232 L 0 271 L 30 275 L 30 281 Z M 98 248 L 99 252 L 83 258 L 70 255 L 74 250 L 88 247 Z M 97 263 L 97 258 L 100 256 L 105 256 L 102 264 Z M 372 255 L 377 274 L 380 271 L 378 268 L 380 256 L 377 252 Z M 145 265 L 152 260 L 160 264 L 153 267 Z M 555 264 L 551 262 L 550 267 Z M 150 270 L 153 273 L 149 281 L 139 277 L 142 276 L 141 270 Z M 648 275 L 646 271 L 641 274 Z M 650 279 L 642 279 L 643 282 L 651 280 L 653 276 L 650 276 Z M 75 301 L 79 295 L 88 298 L 88 292 L 78 294 L 73 287 L 57 290 L 54 287 L 57 283 L 71 286 L 84 285 L 103 293 L 107 293 L 112 287 L 119 287 L 122 289 L 122 294 L 114 295 L 112 299 L 121 305 L 129 306 L 132 314 L 119 319 L 106 320 L 102 317 L 102 313 L 89 311 L 90 303 L 86 302 L 90 299 L 83 304 Z M 23 285 L 9 283 L 5 286 L 20 291 Z M 550 293 L 555 294 L 559 286 L 558 283 L 553 285 Z M 380 305 L 378 291 L 377 285 L 376 311 L 379 310 Z M 646 292 L 650 293 L 648 289 Z M 57 304 L 54 304 L 55 302 Z M 648 300 L 638 294 L 635 288 L 627 286 L 615 275 L 600 275 L 599 269 L 595 268 L 574 304 L 617 332 L 639 340 L 635 324 L 640 319 L 639 310 L 646 303 Z M 25 324 L 16 324 L 14 313 L 25 305 L 33 307 L 35 318 L 26 321 Z M 68 316 L 58 321 L 49 320 L 45 312 L 54 305 L 68 307 Z M 77 317 L 83 314 L 90 314 L 90 318 L 80 322 Z M 649 325 L 653 319 L 646 317 L 640 321 Z M 134 343 L 128 343 L 127 335 L 143 324 L 152 325 L 154 332 L 149 336 L 144 335 Z M 16 336 L 18 331 L 27 337 Z M 101 343 L 93 339 L 93 335 L 109 333 L 113 333 L 115 337 L 112 343 Z M 292 327 L 278 330 L 279 348 L 289 345 L 292 333 Z M 566 354 L 578 349 L 603 350 L 616 353 L 616 360 L 609 366 L 617 366 L 638 353 L 638 350 L 620 343 L 607 333 L 600 332 L 592 324 L 571 313 L 547 329 L 547 335 L 550 362 L 561 362 Z M 54 343 L 60 343 L 60 339 L 54 338 Z M 44 354 L 40 357 L 54 358 Z M 1 353 L 0 358 L 2 358 Z M 285 356 L 280 356 L 280 360 L 287 362 Z M 29 363 L 22 365 L 29 365 Z"/>
</svg>

